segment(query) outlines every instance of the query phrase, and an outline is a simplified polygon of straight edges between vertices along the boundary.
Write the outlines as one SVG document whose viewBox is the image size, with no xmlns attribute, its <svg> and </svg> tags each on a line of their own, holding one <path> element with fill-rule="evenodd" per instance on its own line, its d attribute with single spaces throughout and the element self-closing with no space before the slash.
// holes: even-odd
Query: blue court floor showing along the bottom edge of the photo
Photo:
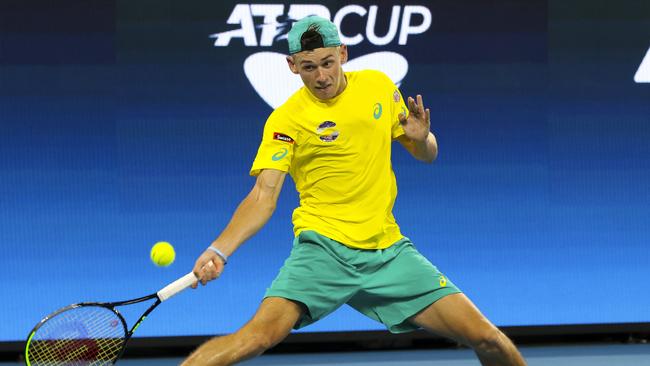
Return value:
<svg viewBox="0 0 650 366">
<path fill-rule="evenodd" d="M 641 366 L 650 365 L 650 345 L 580 345 L 522 347 L 521 352 L 530 366 Z M 180 358 L 125 359 L 123 366 L 178 365 Z M 22 363 L 0 363 L 0 366 L 18 366 Z M 310 353 L 265 355 L 241 365 L 398 365 L 398 366 L 476 366 L 480 365 L 472 351 L 378 351 L 345 353 Z"/>
</svg>

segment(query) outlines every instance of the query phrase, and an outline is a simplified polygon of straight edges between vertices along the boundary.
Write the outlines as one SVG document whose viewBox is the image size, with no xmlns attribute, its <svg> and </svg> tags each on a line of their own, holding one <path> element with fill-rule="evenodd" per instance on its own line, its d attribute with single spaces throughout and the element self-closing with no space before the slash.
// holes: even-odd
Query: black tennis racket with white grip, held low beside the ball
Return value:
<svg viewBox="0 0 650 366">
<path fill-rule="evenodd" d="M 162 290 L 133 300 L 72 304 L 41 320 L 29 333 L 25 346 L 28 366 L 113 365 L 124 353 L 126 344 L 142 321 L 160 303 L 188 288 L 196 281 L 190 272 Z M 127 329 L 116 307 L 156 301 Z"/>
</svg>

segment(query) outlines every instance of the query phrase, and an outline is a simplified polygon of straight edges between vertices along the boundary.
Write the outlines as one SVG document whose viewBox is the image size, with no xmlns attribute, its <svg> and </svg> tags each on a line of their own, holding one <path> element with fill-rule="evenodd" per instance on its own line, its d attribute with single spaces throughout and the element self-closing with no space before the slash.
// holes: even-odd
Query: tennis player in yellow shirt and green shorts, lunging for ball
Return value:
<svg viewBox="0 0 650 366">
<path fill-rule="evenodd" d="M 524 365 L 512 342 L 418 253 L 393 217 L 391 142 L 425 162 L 438 154 L 422 97 L 409 97 L 407 107 L 381 72 L 343 72 L 347 48 L 326 19 L 294 23 L 288 41 L 289 68 L 304 87 L 266 121 L 250 171 L 255 186 L 194 273 L 204 285 L 219 277 L 228 256 L 271 217 L 287 173 L 300 194 L 293 249 L 255 316 L 234 334 L 205 342 L 183 365 L 260 355 L 343 304 L 394 333 L 424 328 L 469 345 L 483 365 Z"/>
</svg>

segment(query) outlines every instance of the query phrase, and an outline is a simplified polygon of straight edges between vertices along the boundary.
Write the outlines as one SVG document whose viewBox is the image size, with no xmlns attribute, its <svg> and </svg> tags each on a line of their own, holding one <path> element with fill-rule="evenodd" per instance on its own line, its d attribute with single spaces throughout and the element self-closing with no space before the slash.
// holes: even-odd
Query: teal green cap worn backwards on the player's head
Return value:
<svg viewBox="0 0 650 366">
<path fill-rule="evenodd" d="M 312 32 L 316 32 L 315 37 L 308 37 Z M 305 37 L 307 35 L 307 37 Z M 320 37 L 318 37 L 320 36 Z M 325 18 L 311 15 L 293 23 L 289 34 L 289 53 L 294 54 L 301 51 L 311 51 L 321 47 L 336 47 L 341 45 L 339 31 L 334 23 Z"/>
</svg>

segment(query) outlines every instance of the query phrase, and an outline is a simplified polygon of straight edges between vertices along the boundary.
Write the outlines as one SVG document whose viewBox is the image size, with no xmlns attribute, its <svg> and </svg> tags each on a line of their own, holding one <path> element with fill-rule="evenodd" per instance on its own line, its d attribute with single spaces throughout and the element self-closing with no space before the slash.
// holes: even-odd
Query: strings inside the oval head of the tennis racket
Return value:
<svg viewBox="0 0 650 366">
<path fill-rule="evenodd" d="M 44 322 L 30 339 L 30 365 L 110 365 L 126 336 L 121 319 L 110 309 L 82 306 Z"/>
</svg>

